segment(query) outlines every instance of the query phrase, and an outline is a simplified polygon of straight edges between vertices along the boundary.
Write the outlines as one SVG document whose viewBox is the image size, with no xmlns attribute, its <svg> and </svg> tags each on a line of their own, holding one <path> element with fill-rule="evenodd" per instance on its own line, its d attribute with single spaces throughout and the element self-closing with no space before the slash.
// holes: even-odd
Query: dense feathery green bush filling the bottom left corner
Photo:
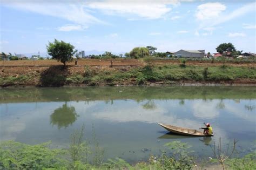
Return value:
<svg viewBox="0 0 256 170">
<path fill-rule="evenodd" d="M 26 145 L 15 141 L 0 144 L 0 169 L 43 169 L 59 168 L 67 165 L 62 159 L 66 154 L 61 149 L 49 149 L 50 142 Z"/>
</svg>

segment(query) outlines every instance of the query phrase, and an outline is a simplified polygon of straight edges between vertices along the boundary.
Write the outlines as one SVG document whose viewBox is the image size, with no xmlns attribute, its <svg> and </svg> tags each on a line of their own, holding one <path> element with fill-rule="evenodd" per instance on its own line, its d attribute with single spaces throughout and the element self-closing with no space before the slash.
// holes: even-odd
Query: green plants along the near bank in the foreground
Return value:
<svg viewBox="0 0 256 170">
<path fill-rule="evenodd" d="M 171 154 L 163 152 L 150 156 L 147 162 L 130 165 L 116 158 L 102 161 L 103 152 L 97 147 L 90 150 L 86 142 L 73 140 L 68 149 L 50 149 L 50 142 L 26 145 L 21 142 L 0 143 L 0 169 L 204 169 L 216 159 L 201 159 L 196 165 L 190 146 L 179 141 L 165 144 Z M 90 157 L 91 155 L 92 157 Z M 256 152 L 244 158 L 232 158 L 225 162 L 225 169 L 255 169 Z"/>
</svg>

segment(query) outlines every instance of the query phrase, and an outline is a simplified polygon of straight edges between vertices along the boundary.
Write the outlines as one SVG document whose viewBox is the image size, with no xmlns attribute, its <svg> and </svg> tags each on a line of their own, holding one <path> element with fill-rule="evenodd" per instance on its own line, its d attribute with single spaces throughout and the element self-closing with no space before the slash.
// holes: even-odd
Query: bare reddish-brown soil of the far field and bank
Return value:
<svg viewBox="0 0 256 170">
<path fill-rule="evenodd" d="M 75 62 L 68 63 L 68 67 L 65 68 L 65 71 L 62 70 L 63 64 L 57 62 L 56 60 L 17 60 L 17 61 L 4 61 L 0 62 L 0 77 L 19 77 L 21 75 L 26 75 L 31 77 L 29 84 L 23 85 L 41 85 L 39 77 L 42 77 L 42 74 L 48 75 L 49 71 L 52 71 L 54 74 L 65 74 L 64 76 L 69 76 L 72 74 L 83 74 L 85 66 L 90 66 L 92 70 L 121 70 L 126 71 L 131 67 L 138 67 L 146 65 L 146 63 L 139 61 L 138 59 L 112 59 L 113 67 L 111 65 L 111 59 L 81 59 L 78 60 L 78 65 L 75 65 Z M 4 64 L 4 66 L 3 66 Z M 155 60 L 155 65 L 171 65 L 180 64 L 179 60 Z M 196 61 L 187 61 L 186 65 L 199 65 L 199 66 L 218 66 L 223 65 L 222 63 L 200 63 Z M 234 64 L 227 63 L 226 65 L 232 66 L 247 66 L 255 67 L 256 63 L 246 63 L 246 64 Z M 56 69 L 58 67 L 59 69 Z M 65 73 L 64 73 L 65 72 Z M 135 80 L 131 79 L 130 81 L 123 82 L 120 85 L 136 85 Z M 255 80 L 251 79 L 236 79 L 231 82 L 197 82 L 197 81 L 179 81 L 173 82 L 173 85 L 253 85 Z M 19 84 L 21 85 L 21 84 Z M 104 85 L 104 84 L 103 84 Z M 106 84 L 105 84 L 106 85 Z M 166 85 L 164 82 L 150 83 L 146 85 L 158 86 Z"/>
</svg>

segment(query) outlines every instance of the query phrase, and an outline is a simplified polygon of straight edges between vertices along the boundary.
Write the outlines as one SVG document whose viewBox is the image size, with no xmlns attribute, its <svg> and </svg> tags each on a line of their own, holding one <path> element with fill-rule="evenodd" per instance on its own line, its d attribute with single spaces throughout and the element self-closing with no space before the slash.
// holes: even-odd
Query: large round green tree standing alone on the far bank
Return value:
<svg viewBox="0 0 256 170">
<path fill-rule="evenodd" d="M 62 62 L 64 65 L 66 65 L 66 62 L 70 62 L 72 56 L 77 52 L 77 50 L 74 50 L 75 46 L 70 43 L 58 41 L 57 39 L 55 39 L 53 43 L 49 42 L 49 44 L 46 45 L 46 49 L 48 55 L 52 56 L 53 59 L 57 59 L 58 62 Z"/>
</svg>

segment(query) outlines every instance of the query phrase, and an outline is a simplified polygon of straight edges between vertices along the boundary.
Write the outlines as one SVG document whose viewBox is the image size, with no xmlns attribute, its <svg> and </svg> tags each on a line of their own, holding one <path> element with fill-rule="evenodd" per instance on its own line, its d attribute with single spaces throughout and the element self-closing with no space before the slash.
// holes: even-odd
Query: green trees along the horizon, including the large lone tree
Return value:
<svg viewBox="0 0 256 170">
<path fill-rule="evenodd" d="M 46 50 L 48 55 L 52 56 L 52 59 L 57 59 L 58 62 L 62 62 L 64 65 L 67 62 L 71 62 L 73 59 L 78 59 L 79 55 L 77 50 L 75 50 L 75 46 L 70 43 L 65 43 L 63 40 L 55 39 L 53 42 L 49 42 L 46 45 Z M 237 51 L 232 43 L 223 43 L 216 47 L 217 52 L 225 55 L 227 52 L 231 52 L 231 56 L 241 55 L 242 51 Z M 106 51 L 102 55 L 91 55 L 91 58 L 144 58 L 147 56 L 157 57 L 157 58 L 165 58 L 165 57 L 173 57 L 173 55 L 169 52 L 156 52 L 157 48 L 153 46 L 146 47 L 134 47 L 130 52 L 126 52 L 124 55 L 114 55 L 112 52 Z M 74 57 L 75 56 L 75 57 Z M 208 52 L 207 56 L 211 56 L 211 53 Z M 4 52 L 1 54 L 2 60 L 18 60 L 17 56 L 12 56 L 11 53 L 6 55 Z"/>
</svg>

